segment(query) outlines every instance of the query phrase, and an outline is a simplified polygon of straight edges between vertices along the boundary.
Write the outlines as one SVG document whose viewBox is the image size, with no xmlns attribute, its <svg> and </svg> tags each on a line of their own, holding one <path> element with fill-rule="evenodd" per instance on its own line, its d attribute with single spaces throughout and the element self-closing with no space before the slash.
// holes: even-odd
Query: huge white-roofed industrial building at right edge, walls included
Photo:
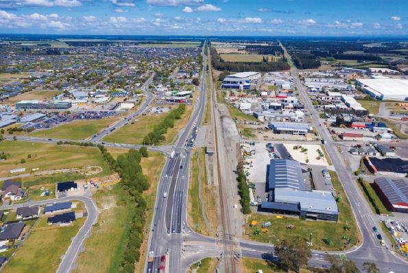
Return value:
<svg viewBox="0 0 408 273">
<path fill-rule="evenodd" d="M 373 79 L 357 79 L 357 85 L 365 93 L 376 99 L 408 100 L 408 80 L 387 77 Z"/>
</svg>

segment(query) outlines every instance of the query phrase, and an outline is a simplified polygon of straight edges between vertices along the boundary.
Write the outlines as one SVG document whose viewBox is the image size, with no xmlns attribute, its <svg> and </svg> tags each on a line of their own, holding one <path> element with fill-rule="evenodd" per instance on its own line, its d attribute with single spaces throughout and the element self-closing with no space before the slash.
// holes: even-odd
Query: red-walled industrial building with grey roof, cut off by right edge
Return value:
<svg viewBox="0 0 408 273">
<path fill-rule="evenodd" d="M 408 181 L 405 178 L 376 178 L 374 189 L 389 211 L 408 213 Z"/>
</svg>

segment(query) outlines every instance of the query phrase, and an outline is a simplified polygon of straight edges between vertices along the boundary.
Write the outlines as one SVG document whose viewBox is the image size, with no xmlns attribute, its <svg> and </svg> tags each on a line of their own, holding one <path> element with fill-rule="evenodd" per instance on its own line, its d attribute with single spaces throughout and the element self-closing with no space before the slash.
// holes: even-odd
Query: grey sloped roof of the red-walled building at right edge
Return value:
<svg viewBox="0 0 408 273">
<path fill-rule="evenodd" d="M 408 182 L 405 179 L 389 179 L 381 177 L 374 179 L 393 206 L 408 206 Z"/>
</svg>

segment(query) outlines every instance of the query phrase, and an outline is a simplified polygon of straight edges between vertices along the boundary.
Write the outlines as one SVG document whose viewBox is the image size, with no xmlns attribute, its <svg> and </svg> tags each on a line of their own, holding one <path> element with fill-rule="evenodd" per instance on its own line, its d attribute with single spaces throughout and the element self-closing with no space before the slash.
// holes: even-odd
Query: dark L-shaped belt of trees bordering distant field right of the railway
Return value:
<svg viewBox="0 0 408 273">
<path fill-rule="evenodd" d="M 283 57 L 276 62 L 226 62 L 217 53 L 214 47 L 211 47 L 211 64 L 215 69 L 221 71 L 280 71 L 289 69 L 287 60 Z"/>
</svg>

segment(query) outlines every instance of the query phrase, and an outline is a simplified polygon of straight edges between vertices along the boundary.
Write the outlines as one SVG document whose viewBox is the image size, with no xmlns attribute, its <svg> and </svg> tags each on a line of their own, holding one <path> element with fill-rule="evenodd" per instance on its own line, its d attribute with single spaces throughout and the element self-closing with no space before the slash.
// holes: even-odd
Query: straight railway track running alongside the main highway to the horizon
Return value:
<svg viewBox="0 0 408 273">
<path fill-rule="evenodd" d="M 224 244 L 224 266 L 225 266 L 225 272 L 226 273 L 235 273 L 237 272 L 237 268 L 235 265 L 235 258 L 231 255 L 231 253 L 234 253 L 234 236 L 231 235 L 231 228 L 230 228 L 230 214 L 228 211 L 228 202 L 227 202 L 227 195 L 226 191 L 224 188 L 224 183 L 226 182 L 223 179 L 223 176 L 221 175 L 221 165 L 220 165 L 220 159 L 219 159 L 219 154 L 220 154 L 220 148 L 219 148 L 219 141 L 218 137 L 221 137 L 217 133 L 217 124 L 220 121 L 220 116 L 219 112 L 217 110 L 217 102 L 216 102 L 216 96 L 215 90 L 213 88 L 213 75 L 211 73 L 211 56 L 209 53 L 208 49 L 208 76 L 210 78 L 210 88 L 211 88 L 211 108 L 213 111 L 213 115 L 211 115 L 212 123 L 213 123 L 213 132 L 214 132 L 214 142 L 215 142 L 215 147 L 214 147 L 214 152 L 215 152 L 215 158 L 217 161 L 217 178 L 218 178 L 218 190 L 219 190 L 219 204 L 220 204 L 220 209 L 221 209 L 221 224 L 222 224 L 222 231 L 223 234 L 221 235 L 222 237 L 222 243 Z M 221 128 L 221 127 L 219 127 Z M 222 138 L 222 137 L 221 137 Z M 224 152 L 222 153 L 224 156 Z"/>
</svg>

